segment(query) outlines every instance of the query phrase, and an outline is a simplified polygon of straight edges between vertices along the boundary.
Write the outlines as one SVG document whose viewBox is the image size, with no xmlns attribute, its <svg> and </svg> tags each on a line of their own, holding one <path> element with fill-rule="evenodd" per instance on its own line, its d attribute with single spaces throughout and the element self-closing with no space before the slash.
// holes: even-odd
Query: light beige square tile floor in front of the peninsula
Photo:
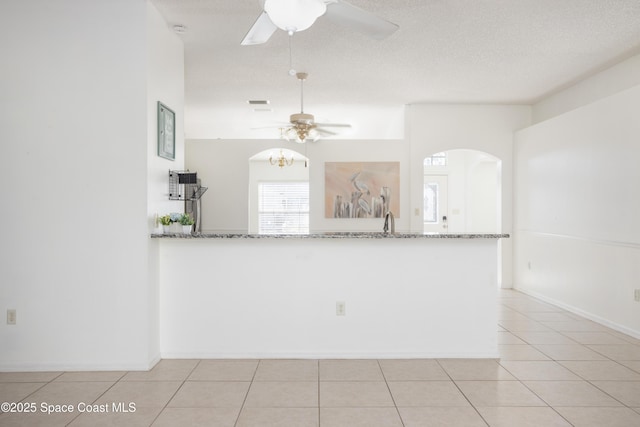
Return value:
<svg viewBox="0 0 640 427">
<path fill-rule="evenodd" d="M 37 409 L 0 414 L 0 426 L 640 426 L 640 340 L 516 291 L 499 298 L 500 360 L 162 360 L 149 372 L 0 373 L 0 402 Z M 56 412 L 42 413 L 43 402 Z"/>
</svg>

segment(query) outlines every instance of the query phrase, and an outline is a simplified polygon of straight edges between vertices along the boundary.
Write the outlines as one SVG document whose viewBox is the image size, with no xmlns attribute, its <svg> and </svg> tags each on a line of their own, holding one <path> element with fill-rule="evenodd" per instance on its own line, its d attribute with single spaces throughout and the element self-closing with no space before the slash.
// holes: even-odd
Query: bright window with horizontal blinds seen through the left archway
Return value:
<svg viewBox="0 0 640 427">
<path fill-rule="evenodd" d="M 258 233 L 309 233 L 309 183 L 259 183 Z"/>
</svg>

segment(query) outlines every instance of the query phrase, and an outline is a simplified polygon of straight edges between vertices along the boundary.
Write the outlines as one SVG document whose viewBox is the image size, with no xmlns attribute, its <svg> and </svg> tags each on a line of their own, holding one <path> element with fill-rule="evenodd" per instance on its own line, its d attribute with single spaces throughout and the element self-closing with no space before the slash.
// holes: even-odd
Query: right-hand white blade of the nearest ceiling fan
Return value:
<svg viewBox="0 0 640 427">
<path fill-rule="evenodd" d="M 325 16 L 376 40 L 389 37 L 399 28 L 393 22 L 342 0 L 327 4 Z"/>
</svg>

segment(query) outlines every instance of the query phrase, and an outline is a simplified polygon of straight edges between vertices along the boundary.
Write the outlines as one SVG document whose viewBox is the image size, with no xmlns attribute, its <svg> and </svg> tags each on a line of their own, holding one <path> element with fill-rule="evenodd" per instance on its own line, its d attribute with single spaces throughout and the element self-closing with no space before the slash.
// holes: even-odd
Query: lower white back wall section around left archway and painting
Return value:
<svg viewBox="0 0 640 427">
<path fill-rule="evenodd" d="M 296 144 L 280 140 L 187 140 L 186 165 L 198 172 L 209 190 L 202 197 L 202 228 L 209 232 L 246 233 L 249 221 L 249 158 L 275 147 L 309 158 L 310 228 L 322 231 L 382 231 L 377 219 L 324 217 L 324 163 L 349 161 L 400 162 L 400 212 L 396 230 L 408 231 L 408 146 L 401 140 L 320 140 Z"/>
</svg>

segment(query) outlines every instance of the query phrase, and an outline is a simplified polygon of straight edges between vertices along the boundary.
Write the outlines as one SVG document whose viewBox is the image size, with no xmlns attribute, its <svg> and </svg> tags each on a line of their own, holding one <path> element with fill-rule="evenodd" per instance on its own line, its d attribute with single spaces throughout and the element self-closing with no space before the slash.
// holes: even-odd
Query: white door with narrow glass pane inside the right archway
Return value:
<svg viewBox="0 0 640 427">
<path fill-rule="evenodd" d="M 448 228 L 448 185 L 446 175 L 424 176 L 423 221 L 425 233 L 446 233 Z"/>
</svg>

